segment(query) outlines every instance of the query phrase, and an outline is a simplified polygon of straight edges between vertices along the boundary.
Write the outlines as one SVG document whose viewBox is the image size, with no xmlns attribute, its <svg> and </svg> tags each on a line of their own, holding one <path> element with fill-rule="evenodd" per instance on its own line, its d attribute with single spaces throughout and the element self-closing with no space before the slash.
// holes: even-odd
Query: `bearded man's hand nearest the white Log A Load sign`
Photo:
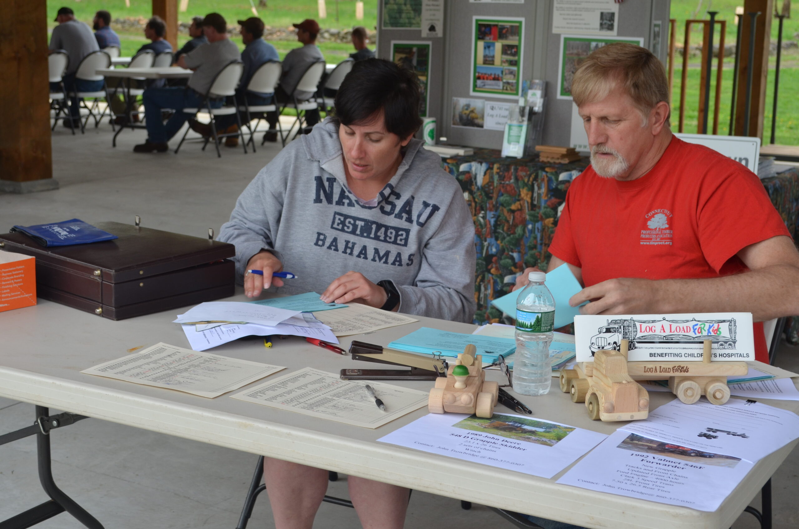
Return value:
<svg viewBox="0 0 799 529">
<path fill-rule="evenodd" d="M 662 312 L 661 288 L 669 280 L 610 279 L 583 288 L 571 296 L 569 304 L 581 314 L 654 314 Z"/>
</svg>

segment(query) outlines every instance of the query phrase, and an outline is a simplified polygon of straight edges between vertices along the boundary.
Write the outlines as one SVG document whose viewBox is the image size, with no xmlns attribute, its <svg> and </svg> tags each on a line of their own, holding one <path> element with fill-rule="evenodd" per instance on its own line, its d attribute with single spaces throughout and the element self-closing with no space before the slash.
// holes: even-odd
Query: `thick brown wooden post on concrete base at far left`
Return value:
<svg viewBox="0 0 799 529">
<path fill-rule="evenodd" d="M 3 7 L 0 191 L 32 193 L 58 189 L 50 147 L 46 2 L 5 0 Z"/>
</svg>

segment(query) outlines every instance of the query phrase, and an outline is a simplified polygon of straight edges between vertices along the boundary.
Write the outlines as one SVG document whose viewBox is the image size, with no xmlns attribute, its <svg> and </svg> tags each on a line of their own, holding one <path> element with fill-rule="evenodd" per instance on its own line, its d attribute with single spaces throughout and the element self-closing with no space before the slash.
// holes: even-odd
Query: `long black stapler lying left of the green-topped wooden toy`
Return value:
<svg viewBox="0 0 799 529">
<path fill-rule="evenodd" d="M 447 360 L 440 356 L 415 355 L 412 352 L 396 351 L 382 345 L 353 341 L 349 348 L 352 360 L 401 365 L 411 369 L 342 369 L 344 380 L 435 380 L 447 376 Z"/>
</svg>

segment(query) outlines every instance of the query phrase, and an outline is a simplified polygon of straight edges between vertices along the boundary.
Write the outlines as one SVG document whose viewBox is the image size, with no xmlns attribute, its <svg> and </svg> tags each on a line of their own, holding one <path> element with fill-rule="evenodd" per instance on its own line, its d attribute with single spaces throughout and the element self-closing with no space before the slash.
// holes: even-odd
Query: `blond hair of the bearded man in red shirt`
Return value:
<svg viewBox="0 0 799 529">
<path fill-rule="evenodd" d="M 574 72 L 571 95 L 578 106 L 601 101 L 614 89 L 630 95 L 635 107 L 647 117 L 655 105 L 669 102 L 669 82 L 663 63 L 646 48 L 614 42 L 595 50 Z M 666 125 L 670 125 L 669 116 Z"/>
</svg>

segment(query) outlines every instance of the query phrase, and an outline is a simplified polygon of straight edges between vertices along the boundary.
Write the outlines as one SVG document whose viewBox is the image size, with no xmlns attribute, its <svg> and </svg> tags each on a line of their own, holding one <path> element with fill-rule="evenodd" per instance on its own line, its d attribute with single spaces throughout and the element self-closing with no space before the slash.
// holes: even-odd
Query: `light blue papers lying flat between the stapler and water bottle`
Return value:
<svg viewBox="0 0 799 529">
<path fill-rule="evenodd" d="M 474 344 L 477 354 L 483 355 L 483 362 L 494 362 L 497 356 L 507 356 L 515 351 L 516 342 L 509 338 L 463 334 L 460 332 L 439 331 L 423 327 L 388 344 L 388 348 L 421 354 L 440 354 L 456 357 L 467 344 Z"/>
</svg>

